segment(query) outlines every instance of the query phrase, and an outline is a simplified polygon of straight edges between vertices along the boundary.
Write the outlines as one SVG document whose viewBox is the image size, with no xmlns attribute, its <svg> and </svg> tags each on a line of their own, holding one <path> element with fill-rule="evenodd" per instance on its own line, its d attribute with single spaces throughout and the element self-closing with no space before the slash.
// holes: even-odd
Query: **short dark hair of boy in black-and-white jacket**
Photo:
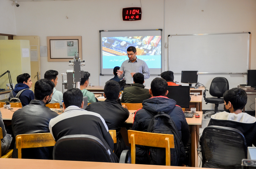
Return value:
<svg viewBox="0 0 256 169">
<path fill-rule="evenodd" d="M 63 93 L 63 103 L 65 104 L 66 108 L 71 105 L 81 107 L 82 102 L 83 93 L 80 89 L 72 88 Z"/>
</svg>

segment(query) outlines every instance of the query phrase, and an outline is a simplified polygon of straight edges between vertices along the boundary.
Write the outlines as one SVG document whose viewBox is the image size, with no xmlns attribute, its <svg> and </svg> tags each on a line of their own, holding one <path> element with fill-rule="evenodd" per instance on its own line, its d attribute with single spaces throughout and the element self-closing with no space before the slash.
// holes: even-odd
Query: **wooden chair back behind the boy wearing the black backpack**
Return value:
<svg viewBox="0 0 256 169">
<path fill-rule="evenodd" d="M 171 165 L 170 148 L 174 148 L 173 135 L 128 130 L 128 138 L 129 143 L 131 143 L 132 164 L 135 164 L 135 145 L 137 144 L 143 146 L 165 148 L 166 166 Z"/>
</svg>

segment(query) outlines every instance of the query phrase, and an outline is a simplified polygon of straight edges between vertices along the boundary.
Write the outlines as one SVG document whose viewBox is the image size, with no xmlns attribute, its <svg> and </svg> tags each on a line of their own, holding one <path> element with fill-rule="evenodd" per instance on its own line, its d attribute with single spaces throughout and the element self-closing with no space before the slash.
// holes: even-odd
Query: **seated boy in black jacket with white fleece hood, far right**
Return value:
<svg viewBox="0 0 256 169">
<path fill-rule="evenodd" d="M 243 113 L 247 94 L 243 89 L 233 88 L 223 94 L 224 112 L 211 116 L 208 126 L 232 127 L 240 130 L 248 146 L 256 146 L 256 118 Z"/>
</svg>

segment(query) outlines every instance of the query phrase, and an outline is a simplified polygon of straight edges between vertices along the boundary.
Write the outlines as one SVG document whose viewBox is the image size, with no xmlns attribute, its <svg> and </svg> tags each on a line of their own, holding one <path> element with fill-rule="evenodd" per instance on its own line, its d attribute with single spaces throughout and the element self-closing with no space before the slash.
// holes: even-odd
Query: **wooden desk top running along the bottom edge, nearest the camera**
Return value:
<svg viewBox="0 0 256 169">
<path fill-rule="evenodd" d="M 37 160 L 37 159 L 1 159 L 1 168 L 3 169 L 200 169 L 192 167 L 176 167 L 176 166 L 155 166 L 141 164 L 122 164 L 122 163 L 101 163 L 101 162 L 85 162 L 85 161 L 62 161 L 62 160 Z"/>
</svg>

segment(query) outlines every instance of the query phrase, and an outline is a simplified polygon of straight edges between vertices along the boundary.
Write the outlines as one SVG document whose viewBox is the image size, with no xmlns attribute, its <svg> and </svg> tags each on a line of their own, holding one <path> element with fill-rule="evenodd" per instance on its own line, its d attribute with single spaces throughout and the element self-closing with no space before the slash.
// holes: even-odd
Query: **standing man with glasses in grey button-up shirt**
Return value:
<svg viewBox="0 0 256 169">
<path fill-rule="evenodd" d="M 127 48 L 127 56 L 129 57 L 129 60 L 124 61 L 120 69 L 117 70 L 118 77 L 126 80 L 124 88 L 132 86 L 133 75 L 135 73 L 142 73 L 144 75 L 144 79 L 148 79 L 150 76 L 148 65 L 146 62 L 138 59 L 136 55 L 136 48 L 134 46 L 129 46 Z"/>
</svg>

